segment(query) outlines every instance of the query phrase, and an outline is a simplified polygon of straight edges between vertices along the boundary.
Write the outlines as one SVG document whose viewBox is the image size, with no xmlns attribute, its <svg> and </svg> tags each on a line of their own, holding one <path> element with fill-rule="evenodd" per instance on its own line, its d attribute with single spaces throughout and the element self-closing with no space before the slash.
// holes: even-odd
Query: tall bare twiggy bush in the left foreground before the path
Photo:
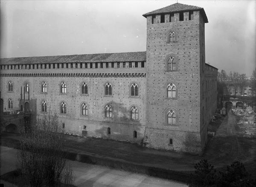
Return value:
<svg viewBox="0 0 256 187">
<path fill-rule="evenodd" d="M 31 187 L 72 184 L 73 171 L 66 164 L 62 145 L 64 131 L 58 116 L 46 116 L 21 132 L 18 168 Z"/>
</svg>

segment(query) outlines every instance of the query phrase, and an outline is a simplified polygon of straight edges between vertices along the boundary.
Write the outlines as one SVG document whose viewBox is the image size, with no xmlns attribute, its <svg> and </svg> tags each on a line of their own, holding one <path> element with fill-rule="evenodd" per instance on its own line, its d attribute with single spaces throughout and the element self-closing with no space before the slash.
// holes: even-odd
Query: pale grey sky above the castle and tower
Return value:
<svg viewBox="0 0 256 187">
<path fill-rule="evenodd" d="M 146 50 L 147 12 L 177 0 L 0 0 L 0 58 Z M 205 60 L 226 72 L 256 67 L 256 0 L 178 0 L 203 7 Z"/>
</svg>

